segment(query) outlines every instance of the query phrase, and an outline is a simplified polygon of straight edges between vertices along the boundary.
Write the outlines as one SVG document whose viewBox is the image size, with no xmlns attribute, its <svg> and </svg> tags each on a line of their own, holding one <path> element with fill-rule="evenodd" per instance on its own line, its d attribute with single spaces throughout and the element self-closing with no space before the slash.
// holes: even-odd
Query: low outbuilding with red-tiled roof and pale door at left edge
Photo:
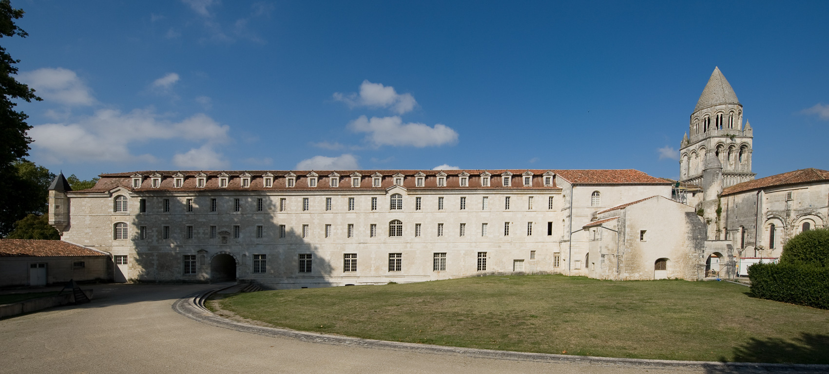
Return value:
<svg viewBox="0 0 829 374">
<path fill-rule="evenodd" d="M 0 287 L 109 281 L 111 263 L 107 252 L 64 240 L 0 239 Z"/>
</svg>

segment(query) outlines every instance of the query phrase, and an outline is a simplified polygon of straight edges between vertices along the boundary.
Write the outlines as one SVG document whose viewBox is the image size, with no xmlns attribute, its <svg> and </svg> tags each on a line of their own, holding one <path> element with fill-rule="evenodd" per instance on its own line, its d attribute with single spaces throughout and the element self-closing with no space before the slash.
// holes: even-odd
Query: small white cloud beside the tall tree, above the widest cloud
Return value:
<svg viewBox="0 0 829 374">
<path fill-rule="evenodd" d="M 75 71 L 58 68 L 42 68 L 20 73 L 20 80 L 36 90 L 44 100 L 64 105 L 92 105 L 92 90 L 78 78 Z"/>
</svg>

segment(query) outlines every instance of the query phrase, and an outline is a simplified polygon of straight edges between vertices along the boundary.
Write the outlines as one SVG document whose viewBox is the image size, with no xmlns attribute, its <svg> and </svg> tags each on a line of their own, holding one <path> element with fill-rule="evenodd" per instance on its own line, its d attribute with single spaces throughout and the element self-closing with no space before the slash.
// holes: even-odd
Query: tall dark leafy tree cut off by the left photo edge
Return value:
<svg viewBox="0 0 829 374">
<path fill-rule="evenodd" d="M 0 37 L 26 37 L 28 34 L 14 24 L 20 17 L 22 9 L 13 8 L 9 0 L 0 0 Z M 41 192 L 36 184 L 21 177 L 15 164 L 28 155 L 32 143 L 26 134 L 32 126 L 26 123 L 26 114 L 14 110 L 15 100 L 41 100 L 35 90 L 14 78 L 18 62 L 0 46 L 0 236 L 12 231 L 14 222 L 28 213 L 43 210 Z"/>
</svg>

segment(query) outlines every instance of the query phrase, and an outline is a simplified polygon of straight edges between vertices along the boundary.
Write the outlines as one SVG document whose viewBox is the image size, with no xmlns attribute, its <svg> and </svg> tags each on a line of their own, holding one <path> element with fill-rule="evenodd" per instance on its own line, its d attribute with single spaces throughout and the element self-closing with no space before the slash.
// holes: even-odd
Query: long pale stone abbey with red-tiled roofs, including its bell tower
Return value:
<svg viewBox="0 0 829 374">
<path fill-rule="evenodd" d="M 633 169 L 145 171 L 70 191 L 61 174 L 49 220 L 62 240 L 109 252 L 115 281 L 277 288 L 733 277 L 742 258 L 823 226 L 829 172 L 755 180 L 752 130 L 719 69 L 690 130 L 679 182 Z"/>
</svg>

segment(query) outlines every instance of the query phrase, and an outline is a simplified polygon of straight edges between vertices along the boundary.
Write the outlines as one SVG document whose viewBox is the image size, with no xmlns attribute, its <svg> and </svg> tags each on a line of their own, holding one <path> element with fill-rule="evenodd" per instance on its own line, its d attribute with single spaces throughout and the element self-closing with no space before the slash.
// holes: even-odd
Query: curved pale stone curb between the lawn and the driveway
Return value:
<svg viewBox="0 0 829 374">
<path fill-rule="evenodd" d="M 339 345 L 346 347 L 385 348 L 396 351 L 430 353 L 439 355 L 461 355 L 466 357 L 494 358 L 499 360 L 531 361 L 531 362 L 572 362 L 597 366 L 627 366 L 627 367 L 686 367 L 690 369 L 705 369 L 709 373 L 753 373 L 753 372 L 788 372 L 788 373 L 827 373 L 829 365 L 818 364 L 781 364 L 755 362 L 706 362 L 706 361 L 675 361 L 649 360 L 641 358 L 613 358 L 560 355 L 553 353 L 511 352 L 492 349 L 447 347 L 414 342 L 390 342 L 365 338 L 351 338 L 339 335 L 322 333 L 308 333 L 289 330 L 287 328 L 268 328 L 247 323 L 232 321 L 212 313 L 204 306 L 204 302 L 212 294 L 226 289 L 224 286 L 217 289 L 200 291 L 190 294 L 172 304 L 177 313 L 212 326 L 227 328 L 241 333 L 255 333 L 272 338 L 288 338 L 302 342 L 316 342 L 322 344 Z"/>
</svg>

